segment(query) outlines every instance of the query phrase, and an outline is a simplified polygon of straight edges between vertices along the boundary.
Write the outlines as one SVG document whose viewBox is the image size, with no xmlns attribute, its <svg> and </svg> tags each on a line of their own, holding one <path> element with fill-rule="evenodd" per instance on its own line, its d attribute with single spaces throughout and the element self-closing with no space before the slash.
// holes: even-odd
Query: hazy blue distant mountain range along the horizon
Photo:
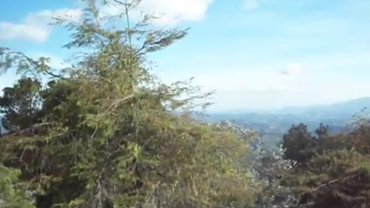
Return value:
<svg viewBox="0 0 370 208">
<path fill-rule="evenodd" d="M 320 123 L 323 123 L 329 125 L 330 133 L 347 131 L 347 124 L 356 120 L 354 114 L 364 108 L 370 109 L 370 97 L 330 105 L 288 107 L 270 113 L 247 111 L 245 113 L 213 113 L 198 118 L 206 121 L 233 120 L 246 128 L 259 131 L 265 140 L 278 141 L 292 124 L 304 123 L 310 131 L 314 131 Z M 364 112 L 362 115 L 365 115 Z"/>
</svg>

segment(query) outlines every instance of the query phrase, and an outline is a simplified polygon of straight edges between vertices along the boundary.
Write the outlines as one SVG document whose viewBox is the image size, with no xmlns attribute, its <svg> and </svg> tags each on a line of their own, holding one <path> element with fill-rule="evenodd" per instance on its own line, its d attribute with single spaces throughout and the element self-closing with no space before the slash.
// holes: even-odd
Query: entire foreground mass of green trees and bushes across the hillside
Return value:
<svg viewBox="0 0 370 208">
<path fill-rule="evenodd" d="M 63 70 L 0 48 L 1 69 L 21 74 L 0 97 L 0 208 L 370 207 L 368 120 L 334 135 L 293 125 L 279 149 L 195 120 L 212 93 L 163 83 L 147 60 L 188 30 L 133 24 L 136 4 L 114 1 L 122 16 L 100 19 L 86 0 L 84 21 L 55 19 L 72 31 L 64 47 L 84 51 Z"/>
</svg>

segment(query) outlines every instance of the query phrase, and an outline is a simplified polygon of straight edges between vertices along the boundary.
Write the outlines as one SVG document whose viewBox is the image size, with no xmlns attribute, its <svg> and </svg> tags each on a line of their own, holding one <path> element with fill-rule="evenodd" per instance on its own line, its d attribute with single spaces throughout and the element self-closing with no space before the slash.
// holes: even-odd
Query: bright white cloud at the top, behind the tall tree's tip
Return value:
<svg viewBox="0 0 370 208">
<path fill-rule="evenodd" d="M 159 26 L 174 25 L 181 21 L 199 21 L 205 17 L 208 7 L 213 0 L 142 0 L 141 3 L 131 10 L 135 19 L 144 14 L 160 16 L 154 20 Z M 101 9 L 102 16 L 117 15 L 122 13 L 123 8 L 118 4 L 110 4 Z"/>
</svg>

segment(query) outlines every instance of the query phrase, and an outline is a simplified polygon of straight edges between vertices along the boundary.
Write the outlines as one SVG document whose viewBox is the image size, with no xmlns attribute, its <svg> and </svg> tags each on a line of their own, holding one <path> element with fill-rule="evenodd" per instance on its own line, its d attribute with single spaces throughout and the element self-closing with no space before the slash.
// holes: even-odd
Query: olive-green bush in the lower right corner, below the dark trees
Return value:
<svg viewBox="0 0 370 208">
<path fill-rule="evenodd" d="M 299 205 L 310 208 L 368 207 L 368 155 L 356 151 L 334 150 L 312 158 L 308 168 L 295 170 L 286 177 L 299 192 Z"/>
</svg>

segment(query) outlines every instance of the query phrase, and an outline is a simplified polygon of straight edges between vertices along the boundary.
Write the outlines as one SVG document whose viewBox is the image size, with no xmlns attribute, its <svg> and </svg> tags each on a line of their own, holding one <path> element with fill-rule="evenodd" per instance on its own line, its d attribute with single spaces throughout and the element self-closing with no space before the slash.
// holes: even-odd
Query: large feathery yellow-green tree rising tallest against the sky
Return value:
<svg viewBox="0 0 370 208">
<path fill-rule="evenodd" d="M 23 69 L 23 57 L 36 73 L 56 80 L 42 93 L 46 131 L 1 139 L 1 160 L 21 168 L 21 180 L 36 192 L 36 207 L 251 205 L 256 187 L 241 160 L 246 141 L 232 129 L 176 115 L 206 107 L 209 93 L 199 94 L 188 81 L 163 84 L 146 65 L 148 53 L 187 30 L 150 30 L 149 16 L 132 26 L 129 10 L 139 1 L 117 0 L 127 27 L 107 28 L 97 2 L 85 2 L 84 21 L 57 19 L 74 31 L 65 47 L 91 51 L 77 64 L 55 76 L 44 59 L 19 53 L 8 59 Z"/>
</svg>

